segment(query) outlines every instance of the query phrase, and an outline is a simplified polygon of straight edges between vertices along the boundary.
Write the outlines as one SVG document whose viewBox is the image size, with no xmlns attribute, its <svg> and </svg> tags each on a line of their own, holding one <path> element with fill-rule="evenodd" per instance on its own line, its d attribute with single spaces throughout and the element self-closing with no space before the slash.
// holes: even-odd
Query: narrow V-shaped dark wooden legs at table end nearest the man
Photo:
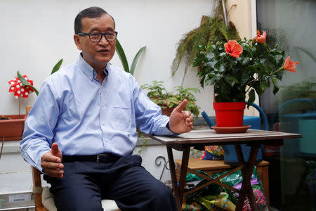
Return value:
<svg viewBox="0 0 316 211">
<path fill-rule="evenodd" d="M 181 170 L 179 177 L 179 186 L 177 184 L 176 177 L 176 165 L 173 160 L 172 148 L 167 146 L 167 153 L 170 165 L 170 174 L 174 196 L 176 198 L 176 203 L 178 206 L 178 210 L 181 210 L 182 202 L 183 202 L 183 194 L 184 194 L 184 186 L 185 186 L 185 178 L 187 175 L 187 165 L 189 163 L 189 155 L 190 155 L 190 147 L 185 148 L 183 151 L 182 162 L 181 162 Z"/>
</svg>

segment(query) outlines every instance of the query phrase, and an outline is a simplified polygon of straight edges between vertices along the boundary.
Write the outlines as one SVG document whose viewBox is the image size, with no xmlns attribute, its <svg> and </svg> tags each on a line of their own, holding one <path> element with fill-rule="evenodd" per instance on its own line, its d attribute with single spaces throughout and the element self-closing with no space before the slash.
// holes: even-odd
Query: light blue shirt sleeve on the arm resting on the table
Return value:
<svg viewBox="0 0 316 211">
<path fill-rule="evenodd" d="M 135 81 L 133 89 L 136 125 L 141 132 L 157 136 L 174 136 L 167 124 L 169 117 L 162 115 L 162 109 L 148 98 L 143 89 Z"/>
</svg>

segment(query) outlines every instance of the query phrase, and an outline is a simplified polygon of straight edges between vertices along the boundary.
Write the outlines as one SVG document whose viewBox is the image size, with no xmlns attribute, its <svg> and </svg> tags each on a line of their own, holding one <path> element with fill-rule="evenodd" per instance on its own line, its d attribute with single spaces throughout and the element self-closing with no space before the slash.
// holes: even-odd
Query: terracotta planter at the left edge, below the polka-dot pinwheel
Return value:
<svg viewBox="0 0 316 211">
<path fill-rule="evenodd" d="M 0 140 L 20 140 L 22 139 L 24 122 L 26 115 L 5 115 L 11 120 L 0 120 Z"/>
</svg>

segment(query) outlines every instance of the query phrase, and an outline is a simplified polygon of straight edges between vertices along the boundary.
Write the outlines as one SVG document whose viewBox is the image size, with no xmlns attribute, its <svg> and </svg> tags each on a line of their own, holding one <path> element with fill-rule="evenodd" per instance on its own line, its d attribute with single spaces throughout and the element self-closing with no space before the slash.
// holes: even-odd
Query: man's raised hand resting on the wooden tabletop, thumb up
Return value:
<svg viewBox="0 0 316 211">
<path fill-rule="evenodd" d="M 182 101 L 179 106 L 173 109 L 170 115 L 169 129 L 173 133 L 186 133 L 193 129 L 190 111 L 183 110 L 187 105 L 187 100 Z"/>
</svg>

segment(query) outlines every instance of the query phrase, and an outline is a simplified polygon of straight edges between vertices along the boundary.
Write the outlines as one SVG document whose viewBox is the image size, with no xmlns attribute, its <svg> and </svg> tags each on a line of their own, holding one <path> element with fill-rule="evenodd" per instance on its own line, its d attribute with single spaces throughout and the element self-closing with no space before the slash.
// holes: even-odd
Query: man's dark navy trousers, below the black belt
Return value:
<svg viewBox="0 0 316 211">
<path fill-rule="evenodd" d="M 121 210 L 176 210 L 170 189 L 141 166 L 139 155 L 115 162 L 65 162 L 64 177 L 51 184 L 58 210 L 103 210 L 101 199 L 115 200 Z"/>
</svg>

